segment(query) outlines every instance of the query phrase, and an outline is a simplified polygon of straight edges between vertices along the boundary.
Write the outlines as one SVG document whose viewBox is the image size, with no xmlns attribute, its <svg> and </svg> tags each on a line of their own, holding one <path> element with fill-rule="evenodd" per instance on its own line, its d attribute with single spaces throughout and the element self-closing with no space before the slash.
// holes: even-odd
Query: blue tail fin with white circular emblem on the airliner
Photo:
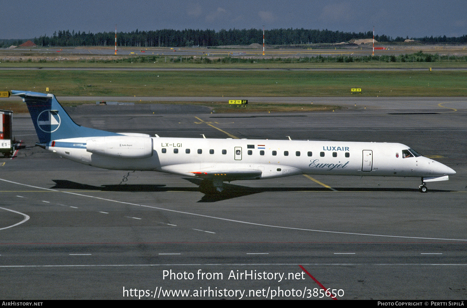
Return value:
<svg viewBox="0 0 467 308">
<path fill-rule="evenodd" d="M 54 94 L 28 91 L 11 91 L 11 93 L 22 97 L 28 106 L 39 143 L 47 144 L 52 140 L 77 137 L 118 135 L 76 124 L 57 101 Z"/>
</svg>

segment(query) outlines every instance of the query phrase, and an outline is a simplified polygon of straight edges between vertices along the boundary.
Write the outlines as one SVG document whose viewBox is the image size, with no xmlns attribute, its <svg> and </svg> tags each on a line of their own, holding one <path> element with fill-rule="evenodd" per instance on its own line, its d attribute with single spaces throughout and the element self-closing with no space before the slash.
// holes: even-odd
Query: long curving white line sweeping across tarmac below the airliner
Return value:
<svg viewBox="0 0 467 308">
<path fill-rule="evenodd" d="M 158 210 L 162 210 L 162 211 L 169 211 L 169 212 L 174 212 L 174 213 L 179 213 L 179 214 L 194 215 L 194 216 L 199 216 L 199 217 L 219 219 L 219 220 L 223 220 L 223 221 L 226 221 L 226 222 L 238 222 L 238 223 L 245 223 L 245 224 L 250 224 L 250 225 L 255 225 L 255 226 L 262 226 L 262 227 L 269 227 L 269 228 L 280 228 L 280 229 L 323 232 L 323 233 L 334 233 L 334 234 L 347 234 L 347 235 L 361 235 L 361 236 L 379 236 L 379 237 L 391 237 L 391 238 L 412 238 L 412 239 L 424 239 L 424 240 L 443 240 L 443 241 L 463 241 L 463 242 L 467 242 L 467 239 L 457 239 L 457 238 L 396 236 L 396 235 L 367 234 L 367 233 L 354 233 L 354 232 L 339 232 L 339 231 L 326 231 L 326 230 L 315 230 L 315 229 L 304 229 L 304 228 L 292 228 L 292 227 L 274 226 L 274 225 L 267 225 L 267 224 L 255 223 L 255 222 L 243 222 L 243 221 L 240 221 L 240 220 L 234 220 L 234 219 L 228 219 L 228 218 L 222 218 L 222 217 L 215 217 L 215 216 L 209 216 L 209 215 L 202 215 L 202 214 L 196 214 L 196 213 L 190 213 L 190 212 L 183 212 L 183 211 L 177 211 L 177 210 L 168 209 L 168 208 L 157 208 L 157 207 L 153 207 L 153 206 L 149 206 L 149 205 L 143 205 L 143 204 L 137 204 L 137 203 L 131 203 L 131 202 L 125 202 L 125 201 L 118 201 L 118 200 L 106 199 L 106 198 L 101 198 L 101 197 L 94 197 L 94 196 L 85 195 L 85 194 L 82 194 L 82 193 L 64 192 L 64 191 L 51 189 L 51 188 L 43 188 L 43 187 L 32 186 L 32 185 L 28 185 L 28 184 L 17 183 L 17 182 L 9 181 L 7 179 L 0 179 L 0 181 L 13 183 L 13 184 L 17 184 L 17 185 L 22 185 L 22 186 L 27 186 L 27 187 L 43 189 L 43 190 L 49 190 L 49 191 L 52 191 L 52 192 L 69 193 L 69 194 L 73 194 L 73 195 L 77 195 L 77 196 L 88 197 L 88 198 L 93 198 L 93 199 L 98 199 L 98 200 L 104 200 L 104 201 L 109 201 L 109 202 L 116 202 L 116 203 L 121 203 L 121 204 L 134 205 L 134 206 L 137 206 L 137 207 L 154 208 L 154 209 L 158 209 Z"/>
</svg>

